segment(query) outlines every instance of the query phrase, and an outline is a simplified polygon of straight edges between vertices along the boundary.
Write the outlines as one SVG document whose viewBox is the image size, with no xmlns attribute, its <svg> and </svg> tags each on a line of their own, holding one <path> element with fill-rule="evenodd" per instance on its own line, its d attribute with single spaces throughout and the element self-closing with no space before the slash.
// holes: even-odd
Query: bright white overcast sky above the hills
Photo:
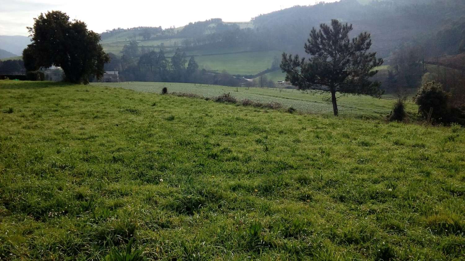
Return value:
<svg viewBox="0 0 465 261">
<path fill-rule="evenodd" d="M 320 0 L 0 0 L 0 35 L 27 36 L 26 26 L 41 12 L 60 10 L 71 19 L 87 23 L 95 32 L 135 26 L 182 26 L 189 22 L 222 18 L 227 22 L 249 21 L 295 5 L 311 5 Z M 334 2 L 335 0 L 326 0 Z"/>
</svg>

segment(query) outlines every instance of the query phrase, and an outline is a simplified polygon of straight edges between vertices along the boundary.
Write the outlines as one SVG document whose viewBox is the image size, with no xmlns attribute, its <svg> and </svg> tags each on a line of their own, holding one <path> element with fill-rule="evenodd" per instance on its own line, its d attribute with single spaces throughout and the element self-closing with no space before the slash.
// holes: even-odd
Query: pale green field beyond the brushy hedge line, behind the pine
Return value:
<svg viewBox="0 0 465 261">
<path fill-rule="evenodd" d="M 224 93 L 230 93 L 238 99 L 250 99 L 256 102 L 279 102 L 284 108 L 295 108 L 301 112 L 313 114 L 332 114 L 332 104 L 328 102 L 328 95 L 315 93 L 301 93 L 299 90 L 276 88 L 236 88 L 219 85 L 202 85 L 192 83 L 92 83 L 96 86 L 108 86 L 113 88 L 132 89 L 141 92 L 160 93 L 163 87 L 168 92 L 182 92 L 216 97 Z M 238 90 L 236 92 L 236 89 Z M 347 95 L 338 100 L 341 115 L 351 117 L 382 118 L 389 115 L 394 104 L 390 96 L 376 99 L 365 95 Z M 410 113 L 418 111 L 417 105 L 407 101 L 407 110 Z"/>
</svg>

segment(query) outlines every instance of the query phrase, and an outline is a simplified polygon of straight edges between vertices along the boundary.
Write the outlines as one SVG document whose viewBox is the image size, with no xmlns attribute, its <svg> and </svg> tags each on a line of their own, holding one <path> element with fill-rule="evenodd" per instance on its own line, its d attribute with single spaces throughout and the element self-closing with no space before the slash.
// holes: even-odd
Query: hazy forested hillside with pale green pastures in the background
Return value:
<svg viewBox="0 0 465 261">
<path fill-rule="evenodd" d="M 199 70 L 246 78 L 266 74 L 278 80 L 284 79 L 284 75 L 279 67 L 272 68 L 275 57 L 280 59 L 283 51 L 302 54 L 312 27 L 331 19 L 353 24 L 353 36 L 370 32 L 372 51 L 385 58 L 386 64 L 395 65 L 399 52 L 413 49 L 415 63 L 419 64 L 465 51 L 464 13 L 462 0 L 341 0 L 293 6 L 259 15 L 249 22 L 227 23 L 216 18 L 179 28 L 118 28 L 101 36 L 104 49 L 121 58 L 120 64 L 115 67 L 113 63 L 107 69 L 122 71 L 121 76 L 127 80 L 153 79 L 135 67 L 139 57 L 160 50 L 168 60 L 176 51 L 194 57 Z M 133 70 L 125 74 L 125 68 Z M 387 74 L 387 70 L 381 73 L 384 78 Z"/>
</svg>

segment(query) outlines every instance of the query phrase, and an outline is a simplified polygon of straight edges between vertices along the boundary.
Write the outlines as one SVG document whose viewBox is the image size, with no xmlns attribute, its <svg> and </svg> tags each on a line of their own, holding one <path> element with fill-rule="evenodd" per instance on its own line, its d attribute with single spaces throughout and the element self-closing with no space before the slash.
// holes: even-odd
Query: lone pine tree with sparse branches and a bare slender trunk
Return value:
<svg viewBox="0 0 465 261">
<path fill-rule="evenodd" d="M 300 58 L 283 53 L 281 69 L 286 80 L 299 89 L 313 89 L 331 93 L 334 115 L 338 115 L 337 94 L 382 94 L 379 82 L 370 81 L 378 71 L 375 67 L 383 64 L 375 52 L 368 52 L 372 42 L 367 32 L 352 40 L 349 33 L 352 25 L 342 24 L 333 19 L 331 26 L 321 24 L 315 28 L 305 44 L 305 52 L 311 57 Z"/>
</svg>

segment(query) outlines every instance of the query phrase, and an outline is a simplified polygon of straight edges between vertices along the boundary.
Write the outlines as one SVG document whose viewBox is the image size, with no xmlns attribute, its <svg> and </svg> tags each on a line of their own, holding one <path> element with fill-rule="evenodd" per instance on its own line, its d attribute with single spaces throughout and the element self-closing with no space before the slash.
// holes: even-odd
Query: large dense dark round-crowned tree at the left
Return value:
<svg viewBox="0 0 465 261">
<path fill-rule="evenodd" d="M 27 27 L 32 43 L 23 51 L 28 70 L 61 67 L 71 83 L 88 83 L 89 78 L 101 78 L 104 64 L 110 57 L 99 44 L 100 35 L 87 30 L 79 20 L 69 20 L 60 11 L 41 13 L 34 18 L 33 27 Z"/>
</svg>

